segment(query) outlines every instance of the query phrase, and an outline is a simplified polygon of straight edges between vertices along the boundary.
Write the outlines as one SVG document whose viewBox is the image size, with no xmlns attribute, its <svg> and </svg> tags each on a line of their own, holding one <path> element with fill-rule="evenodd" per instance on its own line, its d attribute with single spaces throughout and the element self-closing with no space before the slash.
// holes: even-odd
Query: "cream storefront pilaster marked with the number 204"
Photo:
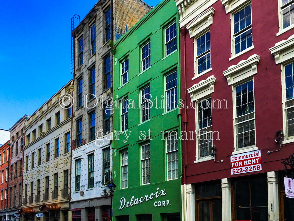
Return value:
<svg viewBox="0 0 294 221">
<path fill-rule="evenodd" d="M 269 220 L 279 220 L 278 172 L 268 172 L 268 215 Z"/>
</svg>

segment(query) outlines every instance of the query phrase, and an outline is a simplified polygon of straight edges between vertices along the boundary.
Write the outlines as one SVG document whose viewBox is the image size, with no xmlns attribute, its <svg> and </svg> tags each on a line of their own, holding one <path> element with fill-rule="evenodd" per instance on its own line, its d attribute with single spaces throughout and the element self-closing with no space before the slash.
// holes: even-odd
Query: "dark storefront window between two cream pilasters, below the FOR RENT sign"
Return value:
<svg viewBox="0 0 294 221">
<path fill-rule="evenodd" d="M 235 220 L 268 220 L 266 177 L 233 182 Z"/>
</svg>

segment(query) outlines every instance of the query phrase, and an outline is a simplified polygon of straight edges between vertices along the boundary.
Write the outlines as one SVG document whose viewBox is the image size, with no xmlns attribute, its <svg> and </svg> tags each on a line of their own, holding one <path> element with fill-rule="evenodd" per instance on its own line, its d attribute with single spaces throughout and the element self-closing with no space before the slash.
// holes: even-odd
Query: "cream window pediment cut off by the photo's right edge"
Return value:
<svg viewBox="0 0 294 221">
<path fill-rule="evenodd" d="M 287 40 L 276 43 L 270 48 L 270 52 L 275 56 L 276 65 L 292 59 L 294 57 L 294 34 Z"/>
</svg>

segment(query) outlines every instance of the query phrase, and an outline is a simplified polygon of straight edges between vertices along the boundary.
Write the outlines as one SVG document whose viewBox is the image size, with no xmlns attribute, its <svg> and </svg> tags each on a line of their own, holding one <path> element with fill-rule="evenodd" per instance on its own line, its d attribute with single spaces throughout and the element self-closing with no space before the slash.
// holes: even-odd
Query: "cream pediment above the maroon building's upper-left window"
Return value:
<svg viewBox="0 0 294 221">
<path fill-rule="evenodd" d="M 190 38 L 197 37 L 197 35 L 202 34 L 206 29 L 209 28 L 213 22 L 213 14 L 214 8 L 211 7 L 206 11 L 203 11 L 187 25 Z"/>
</svg>

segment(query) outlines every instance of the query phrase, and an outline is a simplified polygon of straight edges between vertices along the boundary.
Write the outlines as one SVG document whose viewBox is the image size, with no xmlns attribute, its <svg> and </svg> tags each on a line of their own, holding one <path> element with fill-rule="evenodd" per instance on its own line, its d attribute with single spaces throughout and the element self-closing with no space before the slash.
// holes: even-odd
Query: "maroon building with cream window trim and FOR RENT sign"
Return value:
<svg viewBox="0 0 294 221">
<path fill-rule="evenodd" d="M 281 163 L 294 153 L 294 1 L 176 3 L 183 217 L 294 220 Z"/>
</svg>

